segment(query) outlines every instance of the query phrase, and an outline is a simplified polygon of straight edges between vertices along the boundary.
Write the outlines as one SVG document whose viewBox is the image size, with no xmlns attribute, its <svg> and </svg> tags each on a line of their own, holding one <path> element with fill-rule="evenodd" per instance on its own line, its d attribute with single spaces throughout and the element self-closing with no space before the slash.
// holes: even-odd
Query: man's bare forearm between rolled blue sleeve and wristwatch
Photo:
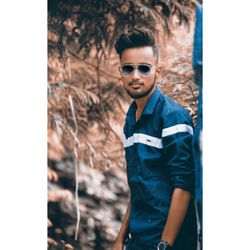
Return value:
<svg viewBox="0 0 250 250">
<path fill-rule="evenodd" d="M 174 189 L 168 218 L 161 239 L 171 246 L 174 244 L 180 227 L 185 218 L 191 194 L 183 189 Z"/>
</svg>

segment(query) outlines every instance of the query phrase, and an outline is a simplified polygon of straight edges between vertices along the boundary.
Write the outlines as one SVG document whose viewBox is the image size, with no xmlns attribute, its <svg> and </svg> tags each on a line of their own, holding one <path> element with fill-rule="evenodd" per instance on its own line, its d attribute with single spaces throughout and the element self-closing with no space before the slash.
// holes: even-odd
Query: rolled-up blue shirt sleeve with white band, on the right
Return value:
<svg viewBox="0 0 250 250">
<path fill-rule="evenodd" d="M 162 142 L 164 165 L 173 188 L 194 191 L 192 151 L 193 125 L 188 113 L 175 111 L 163 117 Z"/>
</svg>

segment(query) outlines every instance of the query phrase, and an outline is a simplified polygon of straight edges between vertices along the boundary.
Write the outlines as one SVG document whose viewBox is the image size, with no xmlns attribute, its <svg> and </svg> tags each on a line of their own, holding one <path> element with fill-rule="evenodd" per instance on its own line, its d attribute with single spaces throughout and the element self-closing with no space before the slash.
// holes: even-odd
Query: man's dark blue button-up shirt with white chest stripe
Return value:
<svg viewBox="0 0 250 250">
<path fill-rule="evenodd" d="M 161 238 L 174 188 L 194 190 L 193 127 L 188 112 L 158 88 L 137 122 L 136 108 L 133 102 L 124 126 L 130 233 L 137 242 L 149 246 Z M 186 217 L 192 217 L 187 219 L 192 225 L 187 222 L 190 228 L 186 229 L 196 241 L 192 202 L 190 207 Z"/>
</svg>

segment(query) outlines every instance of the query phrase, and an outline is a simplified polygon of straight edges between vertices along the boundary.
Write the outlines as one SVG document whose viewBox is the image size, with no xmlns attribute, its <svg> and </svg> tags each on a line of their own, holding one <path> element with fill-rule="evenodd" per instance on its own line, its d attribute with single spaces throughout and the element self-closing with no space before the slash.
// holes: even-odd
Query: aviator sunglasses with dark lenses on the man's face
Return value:
<svg viewBox="0 0 250 250">
<path fill-rule="evenodd" d="M 141 75 L 141 76 L 148 76 L 148 75 L 151 75 L 152 73 L 152 67 L 151 65 L 149 64 L 145 64 L 145 63 L 140 63 L 140 64 L 123 64 L 121 67 L 120 67 L 120 72 L 121 72 L 121 75 L 126 77 L 126 76 L 129 76 L 133 73 L 133 71 L 135 69 L 138 70 L 138 73 Z"/>
</svg>

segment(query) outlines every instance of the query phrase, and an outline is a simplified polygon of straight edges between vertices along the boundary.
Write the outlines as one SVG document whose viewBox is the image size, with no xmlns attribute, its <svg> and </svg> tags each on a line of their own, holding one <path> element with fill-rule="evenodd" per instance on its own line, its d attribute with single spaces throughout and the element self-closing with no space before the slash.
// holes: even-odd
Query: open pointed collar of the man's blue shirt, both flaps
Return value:
<svg viewBox="0 0 250 250">
<path fill-rule="evenodd" d="M 143 109 L 142 115 L 151 115 L 153 113 L 154 108 L 156 106 L 156 103 L 157 103 L 160 95 L 161 95 L 161 91 L 158 87 L 156 87 L 154 92 L 152 93 L 152 95 L 149 97 L 149 99 L 148 99 L 148 101 Z M 129 107 L 127 116 L 134 117 L 136 109 L 137 109 L 136 102 L 133 101 Z"/>
</svg>

